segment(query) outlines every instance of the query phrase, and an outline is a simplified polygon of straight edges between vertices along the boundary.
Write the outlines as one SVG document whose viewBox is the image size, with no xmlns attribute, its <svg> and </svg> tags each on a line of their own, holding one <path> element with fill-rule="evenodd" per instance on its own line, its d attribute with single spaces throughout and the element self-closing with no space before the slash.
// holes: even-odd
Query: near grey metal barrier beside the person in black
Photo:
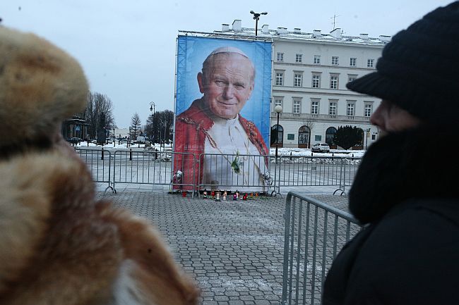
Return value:
<svg viewBox="0 0 459 305">
<path fill-rule="evenodd" d="M 360 228 L 350 213 L 289 192 L 281 304 L 321 304 L 323 282 L 333 259 Z"/>
</svg>

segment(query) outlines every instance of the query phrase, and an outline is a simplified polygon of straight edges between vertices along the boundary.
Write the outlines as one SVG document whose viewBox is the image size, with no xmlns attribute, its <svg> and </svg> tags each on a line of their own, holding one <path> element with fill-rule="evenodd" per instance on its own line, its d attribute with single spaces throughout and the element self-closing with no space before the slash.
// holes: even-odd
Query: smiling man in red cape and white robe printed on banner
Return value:
<svg viewBox="0 0 459 305">
<path fill-rule="evenodd" d="M 184 184 L 201 181 L 213 188 L 263 187 L 268 158 L 256 156 L 269 151 L 256 125 L 239 114 L 251 97 L 254 81 L 254 64 L 240 49 L 223 46 L 205 59 L 198 73 L 203 97 L 177 116 L 175 151 L 196 158 L 203 153 L 222 157 L 205 156 L 193 176 L 192 158 L 176 154 L 174 168 L 184 172 Z"/>
</svg>

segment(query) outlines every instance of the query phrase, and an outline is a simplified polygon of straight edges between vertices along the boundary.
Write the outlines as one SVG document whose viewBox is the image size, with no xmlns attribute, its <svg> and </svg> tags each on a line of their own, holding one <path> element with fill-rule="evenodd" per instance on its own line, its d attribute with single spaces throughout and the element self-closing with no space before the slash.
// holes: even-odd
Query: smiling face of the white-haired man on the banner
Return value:
<svg viewBox="0 0 459 305">
<path fill-rule="evenodd" d="M 208 75 L 198 73 L 205 107 L 220 118 L 236 118 L 254 89 L 251 62 L 240 54 L 215 54 L 212 59 Z"/>
</svg>

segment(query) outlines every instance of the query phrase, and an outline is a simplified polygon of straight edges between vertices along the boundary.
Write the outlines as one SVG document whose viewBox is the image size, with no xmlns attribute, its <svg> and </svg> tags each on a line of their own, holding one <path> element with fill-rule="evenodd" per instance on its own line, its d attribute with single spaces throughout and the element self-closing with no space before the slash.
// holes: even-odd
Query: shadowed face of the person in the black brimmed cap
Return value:
<svg viewBox="0 0 459 305">
<path fill-rule="evenodd" d="M 370 122 L 378 126 L 380 135 L 383 136 L 388 132 L 398 132 L 416 127 L 420 120 L 391 101 L 383 100 L 371 115 Z"/>
</svg>

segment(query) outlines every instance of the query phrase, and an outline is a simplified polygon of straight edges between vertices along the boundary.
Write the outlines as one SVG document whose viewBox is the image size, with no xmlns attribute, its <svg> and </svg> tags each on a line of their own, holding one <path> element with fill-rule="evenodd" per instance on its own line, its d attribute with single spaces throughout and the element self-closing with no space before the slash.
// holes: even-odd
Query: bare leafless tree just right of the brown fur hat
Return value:
<svg viewBox="0 0 459 305">
<path fill-rule="evenodd" d="M 97 129 L 100 128 L 100 118 L 105 116 L 105 124 L 102 126 L 105 130 L 112 130 L 116 127 L 113 118 L 112 100 L 105 94 L 98 92 L 88 92 L 88 105 L 85 109 L 85 119 L 88 125 L 88 135 L 91 139 L 97 136 Z"/>
</svg>

